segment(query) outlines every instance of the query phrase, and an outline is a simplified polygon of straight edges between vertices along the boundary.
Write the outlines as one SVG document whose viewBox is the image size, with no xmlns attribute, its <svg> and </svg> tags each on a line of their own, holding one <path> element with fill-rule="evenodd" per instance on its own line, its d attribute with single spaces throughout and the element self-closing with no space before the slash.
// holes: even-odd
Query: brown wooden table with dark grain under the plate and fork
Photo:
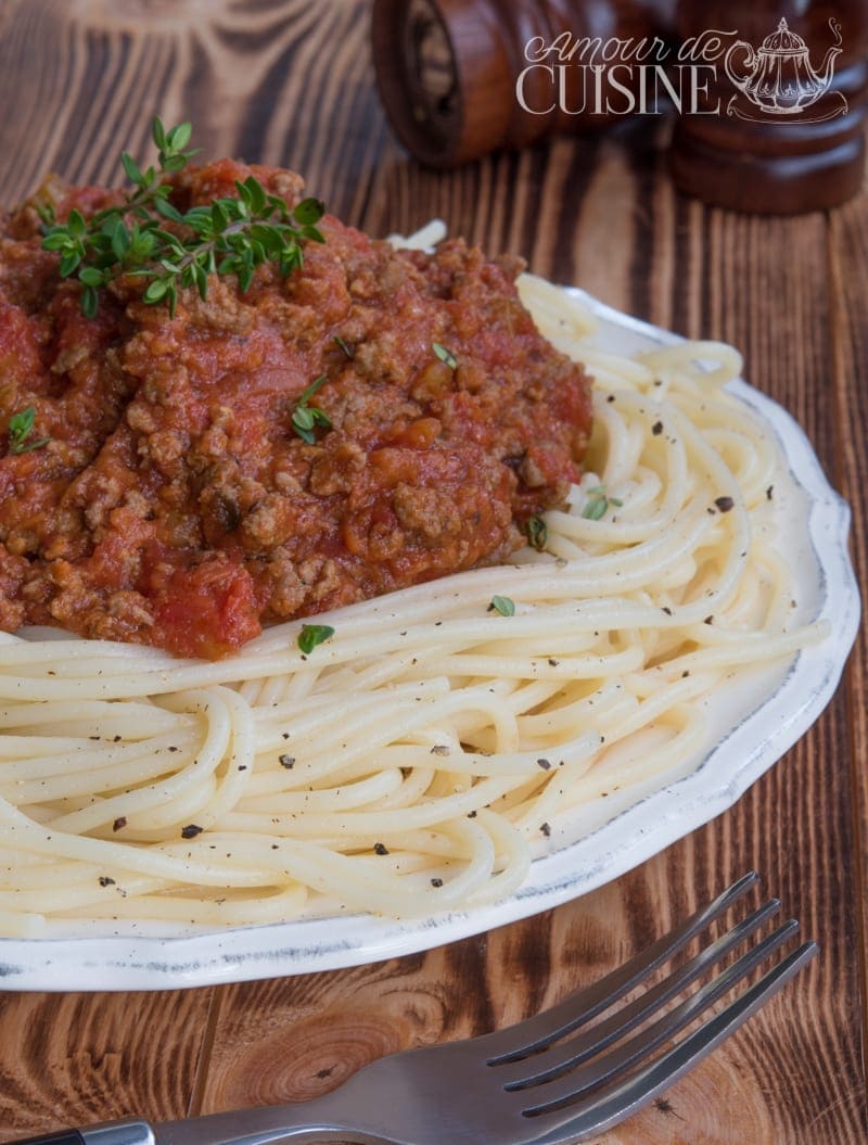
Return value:
<svg viewBox="0 0 868 1145">
<path fill-rule="evenodd" d="M 191 118 L 208 156 L 303 172 L 373 235 L 441 215 L 624 310 L 735 342 L 853 505 L 865 579 L 868 196 L 791 220 L 707 210 L 674 194 L 641 133 L 424 171 L 384 120 L 366 35 L 363 0 L 0 0 L 0 202 L 46 169 L 116 180 L 119 148 L 144 156 L 159 110 Z M 535 1011 L 755 867 L 821 958 L 600 1145 L 867 1142 L 867 654 L 862 634 L 828 711 L 736 807 L 542 917 L 337 973 L 0 995 L 0 1134 L 311 1097 L 379 1055 Z"/>
</svg>

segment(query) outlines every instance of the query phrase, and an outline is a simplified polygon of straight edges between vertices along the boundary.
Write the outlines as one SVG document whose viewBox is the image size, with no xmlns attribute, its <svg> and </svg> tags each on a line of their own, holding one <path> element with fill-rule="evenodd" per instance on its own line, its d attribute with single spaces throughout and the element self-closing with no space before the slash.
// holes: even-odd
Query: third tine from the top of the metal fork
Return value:
<svg viewBox="0 0 868 1145">
<path fill-rule="evenodd" d="M 674 1009 L 664 1013 L 653 1025 L 640 1030 L 623 1045 L 606 1053 L 603 1057 L 586 1064 L 575 1074 L 561 1079 L 559 1083 L 544 1083 L 538 1091 L 540 1100 L 524 1108 L 527 1116 L 552 1112 L 561 1106 L 571 1105 L 584 1093 L 623 1074 L 630 1066 L 647 1058 L 661 1045 L 665 1044 L 680 1029 L 689 1025 L 704 1010 L 724 994 L 736 986 L 745 974 L 758 966 L 774 950 L 782 946 L 798 930 L 798 923 L 790 918 L 783 926 L 768 934 L 762 942 L 745 951 L 737 962 L 721 971 L 710 982 L 695 990 L 688 998 Z M 530 1095 L 528 1095 L 530 1096 Z"/>
</svg>

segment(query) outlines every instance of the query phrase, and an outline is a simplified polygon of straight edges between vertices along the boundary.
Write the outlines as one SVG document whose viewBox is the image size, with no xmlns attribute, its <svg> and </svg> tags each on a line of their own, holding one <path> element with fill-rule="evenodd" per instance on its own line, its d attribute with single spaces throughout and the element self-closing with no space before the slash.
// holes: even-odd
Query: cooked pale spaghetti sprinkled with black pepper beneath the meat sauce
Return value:
<svg viewBox="0 0 868 1145">
<path fill-rule="evenodd" d="M 308 654 L 294 622 L 214 663 L 0 634 L 2 933 L 508 895 L 570 808 L 699 756 L 727 676 L 822 637 L 789 623 L 781 461 L 723 389 L 737 353 L 605 354 L 574 299 L 521 291 L 595 378 L 544 551 L 317 617 Z"/>
</svg>

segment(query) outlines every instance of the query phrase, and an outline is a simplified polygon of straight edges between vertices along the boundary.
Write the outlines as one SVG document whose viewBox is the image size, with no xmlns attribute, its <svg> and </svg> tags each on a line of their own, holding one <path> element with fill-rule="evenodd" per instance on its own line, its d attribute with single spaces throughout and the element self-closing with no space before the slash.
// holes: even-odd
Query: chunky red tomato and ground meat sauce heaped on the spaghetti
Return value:
<svg viewBox="0 0 868 1145">
<path fill-rule="evenodd" d="M 252 169 L 299 198 L 297 176 Z M 174 200 L 235 194 L 250 171 L 184 172 Z M 52 184 L 61 218 L 112 195 Z M 263 623 L 502 560 L 562 500 L 589 384 L 519 301 L 519 264 L 322 230 L 286 278 L 212 277 L 169 318 L 131 276 L 88 319 L 32 205 L 0 222 L 0 627 L 223 656 Z M 331 426 L 309 444 L 292 416 L 323 374 L 311 404 Z M 30 406 L 50 441 L 14 453 Z"/>
</svg>

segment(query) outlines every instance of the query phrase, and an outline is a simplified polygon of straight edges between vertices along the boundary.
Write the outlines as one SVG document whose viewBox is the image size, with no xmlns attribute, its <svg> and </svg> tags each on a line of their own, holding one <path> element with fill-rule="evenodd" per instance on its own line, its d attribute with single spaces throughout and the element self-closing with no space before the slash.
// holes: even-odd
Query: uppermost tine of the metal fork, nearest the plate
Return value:
<svg viewBox="0 0 868 1145">
<path fill-rule="evenodd" d="M 748 871 L 732 886 L 702 907 L 686 922 L 676 926 L 663 938 L 625 962 L 606 978 L 571 994 L 550 1010 L 528 1018 L 526 1021 L 494 1034 L 483 1034 L 476 1044 L 490 1053 L 489 1065 L 518 1061 L 531 1053 L 546 1049 L 565 1034 L 578 1029 L 598 1013 L 607 1010 L 618 998 L 637 986 L 644 978 L 668 962 L 701 933 L 710 923 L 723 915 L 759 881 L 756 871 Z"/>
</svg>

